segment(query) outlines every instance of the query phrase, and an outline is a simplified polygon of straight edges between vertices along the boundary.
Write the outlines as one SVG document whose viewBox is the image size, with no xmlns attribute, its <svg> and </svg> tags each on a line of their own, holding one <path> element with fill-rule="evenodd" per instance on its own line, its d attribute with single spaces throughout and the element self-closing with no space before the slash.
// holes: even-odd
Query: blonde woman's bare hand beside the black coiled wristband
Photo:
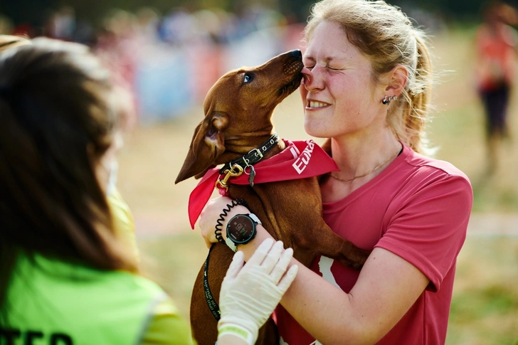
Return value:
<svg viewBox="0 0 518 345">
<path fill-rule="evenodd" d="M 232 205 L 232 199 L 226 196 L 220 196 L 209 200 L 205 208 L 203 208 L 203 211 L 201 211 L 199 226 L 207 248 L 211 248 L 212 243 L 218 242 L 214 230 L 216 230 L 216 224 L 218 218 L 220 218 L 220 215 L 223 213 L 223 209 L 228 208 L 228 205 Z M 231 211 L 228 211 L 227 216 L 223 217 L 223 225 L 221 226 L 223 240 L 226 239 L 226 225 L 228 221 L 237 214 L 247 213 L 250 213 L 250 211 L 242 205 L 234 206 L 231 208 Z"/>
</svg>

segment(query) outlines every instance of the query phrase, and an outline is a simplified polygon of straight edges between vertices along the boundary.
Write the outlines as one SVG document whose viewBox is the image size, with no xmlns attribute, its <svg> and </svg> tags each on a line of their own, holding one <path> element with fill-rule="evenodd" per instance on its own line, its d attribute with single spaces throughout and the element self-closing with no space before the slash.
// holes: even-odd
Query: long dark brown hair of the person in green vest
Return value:
<svg viewBox="0 0 518 345">
<path fill-rule="evenodd" d="M 0 54 L 0 306 L 18 253 L 136 270 L 95 176 L 113 97 L 85 46 L 38 38 Z"/>
</svg>

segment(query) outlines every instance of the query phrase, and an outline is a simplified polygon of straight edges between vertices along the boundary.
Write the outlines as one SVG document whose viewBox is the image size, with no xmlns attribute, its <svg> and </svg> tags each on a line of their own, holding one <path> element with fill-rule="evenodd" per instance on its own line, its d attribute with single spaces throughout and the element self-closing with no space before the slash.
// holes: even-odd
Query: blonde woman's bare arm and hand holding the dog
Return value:
<svg viewBox="0 0 518 345">
<path fill-rule="evenodd" d="M 215 219 L 230 198 L 209 202 L 201 215 L 200 227 L 208 243 L 216 242 Z M 223 222 L 236 214 L 248 213 L 244 206 L 231 208 Z M 239 245 L 245 260 L 259 243 L 271 235 L 261 226 L 258 234 L 245 245 Z M 226 236 L 225 231 L 222 235 Z M 292 259 L 292 264 L 298 263 Z M 322 344 L 375 344 L 421 295 L 428 278 L 411 263 L 388 250 L 375 248 L 365 263 L 356 285 L 349 294 L 334 287 L 303 265 L 281 304 L 287 312 Z"/>
</svg>

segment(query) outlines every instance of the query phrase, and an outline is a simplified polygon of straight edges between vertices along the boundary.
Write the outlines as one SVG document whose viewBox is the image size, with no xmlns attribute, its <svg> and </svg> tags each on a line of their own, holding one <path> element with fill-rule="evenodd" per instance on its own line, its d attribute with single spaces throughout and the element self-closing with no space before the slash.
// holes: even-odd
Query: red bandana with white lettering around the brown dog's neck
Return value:
<svg viewBox="0 0 518 345">
<path fill-rule="evenodd" d="M 312 140 L 305 142 L 282 140 L 287 146 L 286 149 L 269 159 L 254 164 L 254 184 L 305 179 L 339 170 L 334 160 Z M 224 174 L 219 174 L 220 169 L 213 168 L 208 170 L 189 196 L 189 221 L 193 229 L 201 210 L 205 207 L 208 199 L 211 198 L 216 181 L 223 179 L 225 176 Z M 250 184 L 248 182 L 248 174 L 231 177 L 228 183 Z M 220 189 L 219 193 L 223 196 L 227 195 L 226 189 Z"/>
</svg>

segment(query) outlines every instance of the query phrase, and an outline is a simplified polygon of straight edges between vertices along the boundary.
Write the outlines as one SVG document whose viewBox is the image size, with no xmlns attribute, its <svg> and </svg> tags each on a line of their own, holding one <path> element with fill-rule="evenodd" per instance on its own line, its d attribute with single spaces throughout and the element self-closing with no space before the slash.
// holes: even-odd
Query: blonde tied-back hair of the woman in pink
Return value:
<svg viewBox="0 0 518 345">
<path fill-rule="evenodd" d="M 305 28 L 310 41 L 322 21 L 339 23 L 349 39 L 371 61 L 374 81 L 396 65 L 408 70 L 401 100 L 388 107 L 387 124 L 401 142 L 416 152 L 433 152 L 425 137 L 430 108 L 432 65 L 425 33 L 385 1 L 323 0 L 312 7 Z"/>
</svg>

